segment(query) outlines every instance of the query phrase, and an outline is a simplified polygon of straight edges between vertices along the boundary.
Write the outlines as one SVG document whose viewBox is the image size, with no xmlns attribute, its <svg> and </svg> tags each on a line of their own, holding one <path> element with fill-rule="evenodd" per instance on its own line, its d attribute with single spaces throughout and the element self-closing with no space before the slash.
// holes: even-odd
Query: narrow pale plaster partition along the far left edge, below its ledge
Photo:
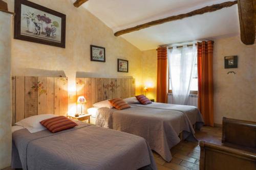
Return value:
<svg viewBox="0 0 256 170">
<path fill-rule="evenodd" d="M 11 160 L 11 22 L 0 11 L 0 169 Z"/>
</svg>

